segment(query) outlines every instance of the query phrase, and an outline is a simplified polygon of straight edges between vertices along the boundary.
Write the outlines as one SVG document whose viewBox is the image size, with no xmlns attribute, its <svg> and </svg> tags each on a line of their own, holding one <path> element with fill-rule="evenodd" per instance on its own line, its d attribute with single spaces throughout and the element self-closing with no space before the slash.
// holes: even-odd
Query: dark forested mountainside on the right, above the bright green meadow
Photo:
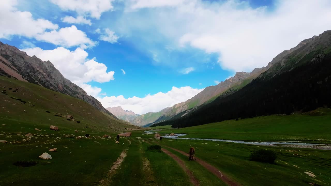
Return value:
<svg viewBox="0 0 331 186">
<path fill-rule="evenodd" d="M 220 96 L 181 118 L 163 122 L 186 127 L 233 118 L 290 114 L 330 107 L 331 31 L 304 40 L 274 58 L 272 67 L 239 91 Z"/>
</svg>

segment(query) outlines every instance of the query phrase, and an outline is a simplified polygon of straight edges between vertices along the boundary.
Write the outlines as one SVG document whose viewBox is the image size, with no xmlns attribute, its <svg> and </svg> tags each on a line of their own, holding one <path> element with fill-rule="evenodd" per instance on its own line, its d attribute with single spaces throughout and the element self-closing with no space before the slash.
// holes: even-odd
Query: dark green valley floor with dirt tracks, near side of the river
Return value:
<svg viewBox="0 0 331 186">
<path fill-rule="evenodd" d="M 20 136 L 10 128 L 11 124 L 0 128 L 0 140 L 8 141 L 0 143 L 0 185 L 331 185 L 331 151 L 326 150 L 165 138 L 160 141 L 142 131 L 121 137 L 116 144 L 116 133 L 104 139 L 98 133 L 90 134 L 90 139 L 74 139 L 65 136 L 82 134 L 36 131 L 31 127 L 24 128 Z M 30 140 L 24 136 L 28 132 L 35 133 Z M 163 152 L 147 151 L 150 144 L 161 145 Z M 190 162 L 186 153 L 192 146 L 197 161 Z M 49 152 L 51 148 L 58 150 Z M 249 155 L 258 149 L 276 152 L 276 163 L 249 161 Z M 52 159 L 39 159 L 44 152 Z M 18 161 L 36 164 L 13 164 Z"/>
</svg>

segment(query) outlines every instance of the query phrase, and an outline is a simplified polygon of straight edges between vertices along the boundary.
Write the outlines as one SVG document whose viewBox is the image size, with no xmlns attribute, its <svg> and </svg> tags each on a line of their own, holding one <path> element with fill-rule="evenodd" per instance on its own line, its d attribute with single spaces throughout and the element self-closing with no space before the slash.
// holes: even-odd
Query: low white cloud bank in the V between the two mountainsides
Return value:
<svg viewBox="0 0 331 186">
<path fill-rule="evenodd" d="M 148 112 L 159 112 L 166 107 L 172 107 L 177 103 L 184 102 L 193 96 L 197 95 L 203 89 L 194 89 L 190 86 L 186 87 L 172 87 L 166 93 L 159 92 L 153 95 L 146 95 L 143 98 L 132 97 L 125 99 L 124 96 L 106 96 L 97 99 L 102 105 L 107 107 L 121 106 L 124 110 L 132 110 L 136 114 L 145 114 Z"/>
</svg>

